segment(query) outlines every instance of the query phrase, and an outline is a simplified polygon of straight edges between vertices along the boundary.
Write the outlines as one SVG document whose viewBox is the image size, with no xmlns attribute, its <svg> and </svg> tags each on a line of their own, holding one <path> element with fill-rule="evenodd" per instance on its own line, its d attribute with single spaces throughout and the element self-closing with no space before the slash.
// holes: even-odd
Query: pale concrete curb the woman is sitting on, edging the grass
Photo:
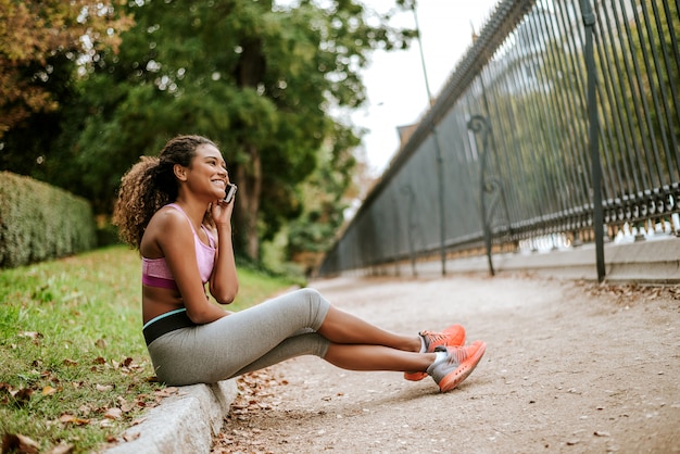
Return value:
<svg viewBox="0 0 680 454">
<path fill-rule="evenodd" d="M 141 424 L 104 454 L 210 453 L 213 437 L 237 395 L 236 380 L 179 387 L 177 394 L 151 408 Z"/>
</svg>

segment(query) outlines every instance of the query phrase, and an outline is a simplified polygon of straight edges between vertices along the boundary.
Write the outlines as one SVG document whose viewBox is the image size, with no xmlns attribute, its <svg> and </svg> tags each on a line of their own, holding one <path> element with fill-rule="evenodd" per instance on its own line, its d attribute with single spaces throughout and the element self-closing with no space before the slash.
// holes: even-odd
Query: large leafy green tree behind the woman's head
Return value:
<svg viewBox="0 0 680 454">
<path fill-rule="evenodd" d="M 239 186 L 236 248 L 259 256 L 262 238 L 301 213 L 297 186 L 322 144 L 356 141 L 332 108 L 364 100 L 360 70 L 373 49 L 405 47 L 412 33 L 369 25 L 353 0 L 129 2 L 136 26 L 88 76 L 91 115 L 79 143 L 87 186 L 101 206 L 140 154 L 171 136 L 216 140 Z M 99 98 L 91 93 L 102 93 Z"/>
</svg>

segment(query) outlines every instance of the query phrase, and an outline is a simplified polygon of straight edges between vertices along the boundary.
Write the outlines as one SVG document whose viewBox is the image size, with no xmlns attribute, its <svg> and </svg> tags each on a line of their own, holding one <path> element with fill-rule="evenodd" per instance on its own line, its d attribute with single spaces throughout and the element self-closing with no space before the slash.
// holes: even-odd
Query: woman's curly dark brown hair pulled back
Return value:
<svg viewBox="0 0 680 454">
<path fill-rule="evenodd" d="M 177 200 L 178 182 L 174 166 L 191 166 L 196 149 L 202 144 L 217 147 L 202 136 L 178 136 L 171 139 L 161 154 L 141 156 L 121 179 L 118 199 L 113 211 L 113 224 L 128 244 L 139 250 L 141 237 L 156 211 Z M 205 213 L 210 224 L 210 212 Z"/>
</svg>

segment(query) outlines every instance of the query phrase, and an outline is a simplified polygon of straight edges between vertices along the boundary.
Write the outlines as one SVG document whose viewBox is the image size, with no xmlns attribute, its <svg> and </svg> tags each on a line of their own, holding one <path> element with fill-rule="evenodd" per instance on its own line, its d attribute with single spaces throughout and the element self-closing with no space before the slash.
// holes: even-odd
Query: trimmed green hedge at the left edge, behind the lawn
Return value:
<svg viewBox="0 0 680 454">
<path fill-rule="evenodd" d="M 0 172 L 0 268 L 93 249 L 89 202 L 35 179 Z"/>
</svg>

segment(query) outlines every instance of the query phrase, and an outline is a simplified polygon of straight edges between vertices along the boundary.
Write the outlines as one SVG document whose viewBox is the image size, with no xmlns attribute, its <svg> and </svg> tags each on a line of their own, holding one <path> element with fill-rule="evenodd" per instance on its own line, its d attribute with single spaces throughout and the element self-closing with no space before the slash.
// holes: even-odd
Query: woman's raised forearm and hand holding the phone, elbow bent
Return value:
<svg viewBox="0 0 680 454">
<path fill-rule="evenodd" d="M 215 266 L 210 278 L 210 293 L 219 304 L 229 304 L 236 299 L 239 291 L 239 280 L 234 258 L 231 242 L 231 212 L 230 203 L 215 202 L 212 206 L 213 220 L 217 229 L 217 251 Z"/>
</svg>

